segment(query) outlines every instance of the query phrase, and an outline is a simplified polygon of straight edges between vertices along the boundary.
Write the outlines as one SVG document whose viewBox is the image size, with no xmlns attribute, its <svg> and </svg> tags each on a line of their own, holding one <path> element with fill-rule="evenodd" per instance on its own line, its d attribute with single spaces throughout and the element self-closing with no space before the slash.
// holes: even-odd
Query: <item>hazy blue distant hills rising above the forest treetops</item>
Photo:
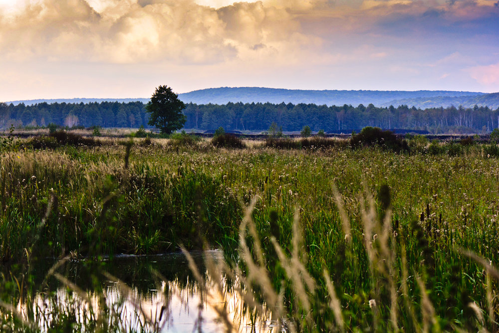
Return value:
<svg viewBox="0 0 499 333">
<path fill-rule="evenodd" d="M 179 98 L 186 102 L 196 104 L 227 104 L 228 102 L 270 102 L 279 103 L 314 103 L 317 105 L 326 104 L 358 106 L 364 104 L 374 104 L 375 106 L 399 106 L 408 105 L 418 108 L 448 107 L 450 105 L 463 105 L 473 107 L 489 106 L 499 107 L 499 93 L 486 94 L 472 91 L 448 91 L 448 90 L 418 90 L 418 91 L 383 91 L 383 90 L 289 90 L 259 87 L 239 87 L 239 88 L 209 88 L 195 90 L 179 94 Z M 73 98 L 73 99 L 35 99 L 19 100 L 7 103 L 17 105 L 24 103 L 32 105 L 41 102 L 47 103 L 89 103 L 89 102 L 149 102 L 149 98 Z"/>
</svg>

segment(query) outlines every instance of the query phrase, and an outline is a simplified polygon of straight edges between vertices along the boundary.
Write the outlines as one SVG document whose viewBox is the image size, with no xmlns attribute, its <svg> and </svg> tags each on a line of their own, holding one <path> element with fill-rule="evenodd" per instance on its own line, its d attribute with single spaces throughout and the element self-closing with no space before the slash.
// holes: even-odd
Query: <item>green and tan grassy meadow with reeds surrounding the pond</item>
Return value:
<svg viewBox="0 0 499 333">
<path fill-rule="evenodd" d="M 223 250 L 219 287 L 287 332 L 497 332 L 495 143 L 58 140 L 2 141 L 4 329 L 39 330 L 15 311 L 35 263 L 182 247 Z"/>
</svg>

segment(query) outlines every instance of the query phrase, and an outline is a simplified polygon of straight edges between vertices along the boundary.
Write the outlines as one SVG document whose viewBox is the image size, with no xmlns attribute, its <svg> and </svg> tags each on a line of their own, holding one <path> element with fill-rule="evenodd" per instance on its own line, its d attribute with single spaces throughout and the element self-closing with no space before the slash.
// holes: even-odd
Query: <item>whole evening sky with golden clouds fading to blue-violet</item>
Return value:
<svg viewBox="0 0 499 333">
<path fill-rule="evenodd" d="M 499 91 L 499 0 L 0 0 L 0 101 Z"/>
</svg>

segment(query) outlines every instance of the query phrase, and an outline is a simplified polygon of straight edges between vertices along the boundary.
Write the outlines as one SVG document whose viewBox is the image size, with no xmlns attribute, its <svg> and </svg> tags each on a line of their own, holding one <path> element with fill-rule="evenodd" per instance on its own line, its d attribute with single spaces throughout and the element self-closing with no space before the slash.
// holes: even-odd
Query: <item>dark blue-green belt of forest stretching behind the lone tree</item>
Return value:
<svg viewBox="0 0 499 333">
<path fill-rule="evenodd" d="M 220 126 L 228 131 L 260 131 L 272 122 L 283 131 L 299 131 L 308 125 L 313 131 L 381 128 L 426 129 L 431 132 L 492 131 L 498 128 L 499 108 L 409 108 L 375 107 L 373 104 L 326 106 L 292 103 L 227 103 L 186 105 L 184 128 L 210 130 Z M 34 105 L 0 104 L 0 127 L 21 126 L 149 127 L 149 114 L 142 102 L 39 103 Z"/>
</svg>

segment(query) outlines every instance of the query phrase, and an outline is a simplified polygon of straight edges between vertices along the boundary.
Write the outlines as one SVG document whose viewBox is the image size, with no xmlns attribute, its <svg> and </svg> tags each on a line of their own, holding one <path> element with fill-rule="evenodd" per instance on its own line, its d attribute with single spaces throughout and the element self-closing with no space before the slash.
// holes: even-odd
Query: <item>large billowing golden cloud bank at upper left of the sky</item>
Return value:
<svg viewBox="0 0 499 333">
<path fill-rule="evenodd" d="M 31 0 L 15 14 L 0 13 L 0 56 L 215 63 L 249 50 L 275 56 L 317 43 L 301 33 L 284 1 L 268 2 L 214 8 L 192 0 Z"/>
</svg>

